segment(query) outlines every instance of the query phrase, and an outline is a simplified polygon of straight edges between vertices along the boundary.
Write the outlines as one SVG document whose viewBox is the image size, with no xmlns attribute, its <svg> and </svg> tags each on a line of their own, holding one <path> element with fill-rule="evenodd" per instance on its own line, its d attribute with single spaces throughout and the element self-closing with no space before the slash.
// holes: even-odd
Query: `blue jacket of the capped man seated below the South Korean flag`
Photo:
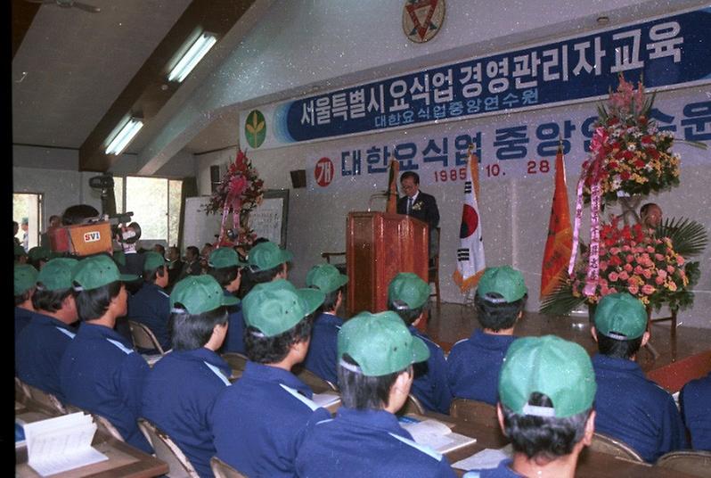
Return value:
<svg viewBox="0 0 711 478">
<path fill-rule="evenodd" d="M 486 334 L 477 329 L 469 339 L 456 342 L 447 357 L 452 395 L 496 405 L 503 358 L 514 340 L 513 335 Z"/>
</svg>

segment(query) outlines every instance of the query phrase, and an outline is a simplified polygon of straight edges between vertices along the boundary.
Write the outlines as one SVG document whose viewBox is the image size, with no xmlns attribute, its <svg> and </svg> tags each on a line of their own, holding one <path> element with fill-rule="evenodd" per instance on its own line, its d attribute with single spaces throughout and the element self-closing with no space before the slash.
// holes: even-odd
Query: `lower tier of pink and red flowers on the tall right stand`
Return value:
<svg viewBox="0 0 711 478">
<path fill-rule="evenodd" d="M 620 228 L 618 223 L 613 217 L 601 225 L 600 278 L 594 294 L 583 293 L 588 249 L 568 279 L 573 297 L 592 304 L 609 293 L 627 292 L 653 309 L 662 303 L 671 308 L 691 303 L 688 289 L 698 276 L 699 263 L 687 263 L 669 237 L 645 235 L 641 224 Z"/>
</svg>

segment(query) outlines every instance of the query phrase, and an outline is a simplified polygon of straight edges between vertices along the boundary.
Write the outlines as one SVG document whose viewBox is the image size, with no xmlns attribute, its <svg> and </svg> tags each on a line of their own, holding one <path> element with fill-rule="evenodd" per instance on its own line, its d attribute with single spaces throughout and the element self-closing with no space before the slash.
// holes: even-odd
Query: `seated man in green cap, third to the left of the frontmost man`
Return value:
<svg viewBox="0 0 711 478">
<path fill-rule="evenodd" d="M 239 299 L 222 293 L 211 276 L 190 276 L 170 294 L 173 351 L 148 373 L 142 415 L 183 451 L 201 477 L 211 477 L 212 408 L 230 385 L 230 366 L 219 349 L 227 333 L 227 308 Z"/>
</svg>

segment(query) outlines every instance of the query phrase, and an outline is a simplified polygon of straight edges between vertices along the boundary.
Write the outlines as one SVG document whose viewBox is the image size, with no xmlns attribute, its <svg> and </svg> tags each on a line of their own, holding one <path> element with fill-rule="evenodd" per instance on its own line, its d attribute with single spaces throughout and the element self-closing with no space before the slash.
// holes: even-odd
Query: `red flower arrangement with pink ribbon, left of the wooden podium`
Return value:
<svg viewBox="0 0 711 478">
<path fill-rule="evenodd" d="M 225 176 L 217 185 L 208 205 L 207 214 L 222 214 L 222 227 L 218 243 L 251 244 L 256 235 L 248 225 L 249 212 L 254 210 L 264 197 L 264 180 L 259 178 L 245 152 L 238 149 L 237 157 L 227 168 Z M 226 228 L 226 219 L 233 214 L 233 228 Z M 225 235 L 229 239 L 225 239 Z"/>
</svg>

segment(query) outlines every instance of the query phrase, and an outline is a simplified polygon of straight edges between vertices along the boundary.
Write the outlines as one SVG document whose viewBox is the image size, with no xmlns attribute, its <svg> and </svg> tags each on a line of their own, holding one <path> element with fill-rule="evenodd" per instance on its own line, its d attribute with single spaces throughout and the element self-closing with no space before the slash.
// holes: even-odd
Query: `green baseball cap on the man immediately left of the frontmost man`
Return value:
<svg viewBox="0 0 711 478">
<path fill-rule="evenodd" d="M 353 367 L 342 360 L 343 354 L 348 354 L 366 376 L 393 374 L 429 359 L 425 342 L 411 334 L 390 310 L 378 314 L 365 311 L 349 319 L 340 327 L 338 350 L 341 367 Z"/>
</svg>

